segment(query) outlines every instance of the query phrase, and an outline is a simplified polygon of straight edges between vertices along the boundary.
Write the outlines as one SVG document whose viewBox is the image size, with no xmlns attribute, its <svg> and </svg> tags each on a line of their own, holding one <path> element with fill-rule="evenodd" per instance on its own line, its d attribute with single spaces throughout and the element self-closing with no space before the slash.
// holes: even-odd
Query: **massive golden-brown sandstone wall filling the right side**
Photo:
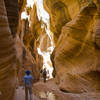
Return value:
<svg viewBox="0 0 100 100">
<path fill-rule="evenodd" d="M 55 8 L 66 6 L 65 19 Z M 55 6 L 53 6 L 55 5 Z M 51 31 L 56 38 L 56 45 L 51 56 L 54 76 L 61 90 L 66 92 L 100 91 L 100 1 L 99 0 L 44 0 L 44 7 L 50 14 L 50 25 L 56 25 Z M 54 8 L 55 7 L 55 8 Z M 52 17 L 53 16 L 53 17 Z M 55 19 L 52 21 L 52 19 Z"/>
</svg>

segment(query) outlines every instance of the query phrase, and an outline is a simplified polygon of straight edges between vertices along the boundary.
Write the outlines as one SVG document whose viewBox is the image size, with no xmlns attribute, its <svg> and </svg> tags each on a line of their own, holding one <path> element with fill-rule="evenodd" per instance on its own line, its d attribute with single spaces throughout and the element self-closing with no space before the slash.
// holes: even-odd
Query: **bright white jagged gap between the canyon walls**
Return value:
<svg viewBox="0 0 100 100">
<path fill-rule="evenodd" d="M 31 10 L 27 10 L 27 9 L 31 9 Z M 27 13 L 28 11 L 30 12 L 29 14 Z M 34 13 L 36 15 L 31 15 L 31 13 Z M 54 41 L 53 41 L 53 33 L 50 31 L 49 14 L 45 11 L 43 7 L 43 0 L 39 0 L 39 1 L 27 0 L 27 4 L 24 8 L 24 11 L 21 13 L 21 20 L 28 19 L 29 28 L 33 28 L 32 24 L 34 24 L 33 21 L 35 18 L 32 17 L 36 17 L 36 19 L 40 22 L 41 26 L 39 28 L 42 28 L 43 31 L 43 32 L 39 31 L 36 33 L 36 34 L 40 34 L 40 37 L 36 39 L 36 41 L 38 40 L 40 42 L 38 46 L 36 44 L 36 49 L 37 49 L 37 53 L 43 57 L 42 69 L 46 68 L 46 70 L 49 72 L 48 77 L 49 79 L 51 79 L 53 78 L 52 76 L 53 66 L 52 66 L 50 56 L 54 50 Z M 31 31 L 32 30 L 34 31 L 34 29 L 31 29 Z"/>
</svg>

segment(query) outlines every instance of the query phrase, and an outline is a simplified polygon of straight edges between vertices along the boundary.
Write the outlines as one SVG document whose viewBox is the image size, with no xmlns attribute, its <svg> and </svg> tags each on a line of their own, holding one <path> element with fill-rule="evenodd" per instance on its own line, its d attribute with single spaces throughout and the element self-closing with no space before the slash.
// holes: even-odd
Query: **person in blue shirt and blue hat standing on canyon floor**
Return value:
<svg viewBox="0 0 100 100">
<path fill-rule="evenodd" d="M 25 100 L 28 100 L 28 92 L 30 94 L 30 100 L 32 100 L 32 83 L 34 78 L 31 75 L 31 72 L 27 70 L 26 75 L 24 76 L 24 85 L 25 85 Z"/>
</svg>

